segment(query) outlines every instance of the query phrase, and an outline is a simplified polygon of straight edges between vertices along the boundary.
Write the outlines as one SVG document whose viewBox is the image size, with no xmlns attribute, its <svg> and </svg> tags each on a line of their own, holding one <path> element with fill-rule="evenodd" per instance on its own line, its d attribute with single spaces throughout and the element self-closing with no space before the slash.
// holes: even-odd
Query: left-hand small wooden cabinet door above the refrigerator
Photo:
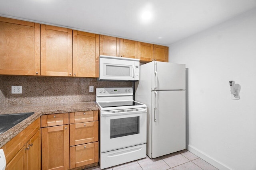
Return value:
<svg viewBox="0 0 256 170">
<path fill-rule="evenodd" d="M 138 42 L 138 59 L 140 63 L 148 63 L 153 60 L 153 44 Z"/>
</svg>

